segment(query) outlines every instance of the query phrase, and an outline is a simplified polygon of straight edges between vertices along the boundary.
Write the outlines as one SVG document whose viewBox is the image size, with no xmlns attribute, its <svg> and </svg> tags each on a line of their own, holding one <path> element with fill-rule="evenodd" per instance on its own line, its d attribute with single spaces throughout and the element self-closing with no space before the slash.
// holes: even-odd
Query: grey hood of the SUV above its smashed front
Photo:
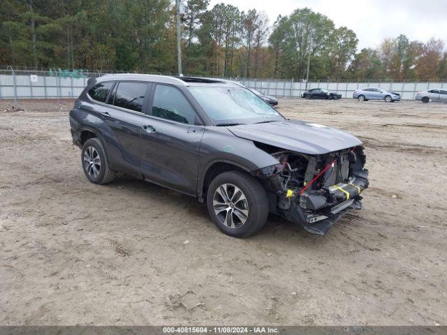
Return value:
<svg viewBox="0 0 447 335">
<path fill-rule="evenodd" d="M 298 120 L 226 128 L 237 137 L 309 155 L 328 154 L 362 144 L 357 137 L 344 131 Z"/>
</svg>

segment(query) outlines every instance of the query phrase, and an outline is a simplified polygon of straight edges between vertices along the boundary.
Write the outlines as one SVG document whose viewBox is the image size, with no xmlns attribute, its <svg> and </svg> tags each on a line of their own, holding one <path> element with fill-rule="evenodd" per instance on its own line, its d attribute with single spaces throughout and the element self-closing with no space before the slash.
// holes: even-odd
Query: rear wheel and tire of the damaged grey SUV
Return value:
<svg viewBox="0 0 447 335">
<path fill-rule="evenodd" d="M 117 172 L 110 168 L 103 144 L 96 137 L 85 141 L 81 161 L 85 177 L 93 184 L 108 184 L 117 177 Z"/>
</svg>

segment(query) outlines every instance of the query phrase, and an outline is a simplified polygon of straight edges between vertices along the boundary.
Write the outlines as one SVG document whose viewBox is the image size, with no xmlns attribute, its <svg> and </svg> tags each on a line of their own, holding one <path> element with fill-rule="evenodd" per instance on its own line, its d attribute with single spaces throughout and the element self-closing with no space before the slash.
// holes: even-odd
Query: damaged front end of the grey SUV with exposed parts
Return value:
<svg viewBox="0 0 447 335">
<path fill-rule="evenodd" d="M 308 155 L 257 146 L 279 162 L 253 172 L 268 191 L 270 211 L 323 235 L 347 211 L 362 208 L 360 193 L 369 185 L 363 147 Z"/>
</svg>

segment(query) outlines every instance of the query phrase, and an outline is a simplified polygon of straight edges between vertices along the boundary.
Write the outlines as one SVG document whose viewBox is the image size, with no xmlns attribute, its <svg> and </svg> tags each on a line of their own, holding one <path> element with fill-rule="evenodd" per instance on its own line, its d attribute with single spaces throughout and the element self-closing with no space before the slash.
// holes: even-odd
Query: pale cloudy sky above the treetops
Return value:
<svg viewBox="0 0 447 335">
<path fill-rule="evenodd" d="M 272 24 L 276 17 L 295 8 L 309 7 L 335 23 L 356 32 L 359 49 L 376 47 L 383 38 L 405 34 L 410 40 L 426 41 L 432 36 L 447 43 L 447 0 L 211 0 L 229 3 L 241 10 L 263 10 Z"/>
</svg>

